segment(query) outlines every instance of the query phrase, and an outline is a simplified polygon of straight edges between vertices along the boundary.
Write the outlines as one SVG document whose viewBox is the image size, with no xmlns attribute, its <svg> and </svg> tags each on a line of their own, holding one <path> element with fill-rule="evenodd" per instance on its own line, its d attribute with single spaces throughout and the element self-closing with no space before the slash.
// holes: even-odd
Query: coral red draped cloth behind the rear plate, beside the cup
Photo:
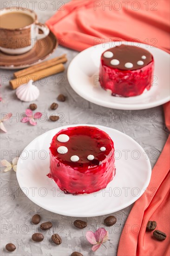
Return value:
<svg viewBox="0 0 170 256">
<path fill-rule="evenodd" d="M 127 40 L 169 51 L 169 0 L 72 0 L 60 9 L 46 24 L 65 47 Z"/>
</svg>

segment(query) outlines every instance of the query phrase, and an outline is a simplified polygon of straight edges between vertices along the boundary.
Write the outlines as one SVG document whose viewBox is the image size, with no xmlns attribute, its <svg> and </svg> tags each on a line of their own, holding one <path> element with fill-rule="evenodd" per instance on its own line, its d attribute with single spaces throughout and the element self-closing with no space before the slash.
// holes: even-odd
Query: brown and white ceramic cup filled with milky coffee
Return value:
<svg viewBox="0 0 170 256">
<path fill-rule="evenodd" d="M 16 7 L 0 12 L 0 50 L 6 54 L 28 52 L 37 40 L 45 38 L 49 32 L 45 24 L 37 21 L 37 15 L 32 10 Z"/>
</svg>

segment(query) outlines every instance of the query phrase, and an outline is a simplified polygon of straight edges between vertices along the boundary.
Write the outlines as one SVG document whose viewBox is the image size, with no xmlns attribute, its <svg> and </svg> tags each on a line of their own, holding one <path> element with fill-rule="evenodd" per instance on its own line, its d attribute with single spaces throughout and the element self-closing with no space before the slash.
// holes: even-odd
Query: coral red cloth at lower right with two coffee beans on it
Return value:
<svg viewBox="0 0 170 256">
<path fill-rule="evenodd" d="M 156 221 L 158 230 L 167 234 L 157 241 L 146 232 L 147 222 Z M 170 256 L 170 136 L 152 170 L 150 184 L 135 202 L 125 223 L 118 256 Z"/>
</svg>

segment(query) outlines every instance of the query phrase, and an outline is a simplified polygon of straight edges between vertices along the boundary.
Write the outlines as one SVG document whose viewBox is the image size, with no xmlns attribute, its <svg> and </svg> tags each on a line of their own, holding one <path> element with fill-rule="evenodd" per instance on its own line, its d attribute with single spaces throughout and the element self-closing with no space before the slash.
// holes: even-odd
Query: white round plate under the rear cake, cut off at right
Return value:
<svg viewBox="0 0 170 256">
<path fill-rule="evenodd" d="M 137 110 L 153 108 L 170 100 L 170 56 L 163 50 L 150 45 L 122 42 L 139 46 L 154 56 L 155 71 L 152 88 L 135 97 L 115 97 L 100 87 L 99 66 L 101 54 L 121 42 L 110 42 L 90 47 L 79 53 L 68 67 L 67 77 L 73 90 L 87 101 L 108 108 Z"/>
</svg>

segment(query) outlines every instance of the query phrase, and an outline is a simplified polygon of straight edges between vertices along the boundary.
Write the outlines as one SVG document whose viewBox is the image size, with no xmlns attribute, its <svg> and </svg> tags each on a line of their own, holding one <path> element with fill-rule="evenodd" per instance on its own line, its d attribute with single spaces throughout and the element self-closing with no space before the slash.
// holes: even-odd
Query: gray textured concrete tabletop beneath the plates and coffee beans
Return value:
<svg viewBox="0 0 170 256">
<path fill-rule="evenodd" d="M 8 6 L 11 3 L 16 3 L 16 1 L 1 1 L 1 5 L 4 2 L 6 2 Z M 22 3 L 24 6 L 23 2 L 24 1 L 18 1 L 19 4 Z M 31 1 L 27 2 L 31 7 Z M 36 1 L 35 3 L 35 11 L 38 13 L 39 21 L 45 22 L 56 12 L 57 7 L 61 5 L 59 2 L 62 1 L 56 1 L 55 8 L 53 8 L 54 1 L 46 1 L 47 9 L 45 11 L 39 9 L 39 2 L 42 1 Z M 52 113 L 52 111 L 49 110 L 49 106 L 52 102 L 56 101 L 57 95 L 62 93 L 67 96 L 67 101 L 59 103 L 59 108 L 57 109 L 58 113 L 64 114 L 63 122 L 38 121 L 38 124 L 35 127 L 21 123 L 20 114 L 25 112 L 29 103 L 19 101 L 15 95 L 15 91 L 10 89 L 8 81 L 3 82 L 1 87 L 3 98 L 0 103 L 1 113 L 12 112 L 13 117 L 15 118 L 12 119 L 12 122 L 7 121 L 5 123 L 7 128 L 6 134 L 0 132 L 1 159 L 4 158 L 8 161 L 12 161 L 16 155 L 20 155 L 20 152 L 29 142 L 49 129 L 68 124 L 96 123 L 98 125 L 118 129 L 119 131 L 130 135 L 146 152 L 148 152 L 153 167 L 168 136 L 168 133 L 165 130 L 162 106 L 140 111 L 124 111 L 100 107 L 82 99 L 72 90 L 66 76 L 67 67 L 78 52 L 64 47 L 58 47 L 49 59 L 65 53 L 67 54 L 68 62 L 65 65 L 66 69 L 64 73 L 48 77 L 47 82 L 44 85 L 43 80 L 35 82 L 35 85 L 40 89 L 40 96 L 38 100 L 35 101 L 38 105 L 37 111 L 46 113 L 47 116 Z M 1 76 L 2 75 L 6 75 L 7 79 L 9 79 L 9 77 L 13 75 L 13 71 L 1 70 Z M 53 84 L 54 79 L 55 83 Z M 105 117 L 111 115 L 111 120 L 108 118 L 100 118 L 94 122 L 94 113 L 101 113 Z M 114 119 L 116 113 L 121 116 L 121 121 L 119 122 Z M 16 117 L 17 115 L 19 117 Z M 137 120 L 137 115 L 138 121 L 134 121 Z M 1 168 L 0 171 L 1 255 L 70 256 L 73 251 L 79 251 L 84 256 L 116 255 L 121 230 L 132 206 L 114 213 L 114 216 L 117 217 L 117 224 L 115 227 L 113 226 L 108 229 L 109 241 L 105 243 L 105 246 L 102 245 L 100 249 L 93 253 L 91 245 L 85 238 L 85 233 L 87 230 L 94 231 L 96 228 L 105 227 L 103 221 L 106 216 L 82 218 L 82 220 L 88 222 L 87 228 L 76 229 L 73 226 L 76 217 L 57 215 L 35 205 L 20 193 L 16 174 L 13 171 L 4 173 L 3 169 L 4 168 Z M 53 228 L 46 231 L 45 239 L 41 243 L 34 243 L 31 240 L 33 232 L 38 231 L 38 227 L 33 226 L 30 222 L 35 213 L 40 214 L 42 222 L 52 221 L 53 223 Z M 53 232 L 59 233 L 62 237 L 63 243 L 61 245 L 56 246 L 50 242 L 50 237 Z M 7 252 L 5 249 L 7 243 L 14 243 L 17 249 L 13 253 Z"/>
</svg>

